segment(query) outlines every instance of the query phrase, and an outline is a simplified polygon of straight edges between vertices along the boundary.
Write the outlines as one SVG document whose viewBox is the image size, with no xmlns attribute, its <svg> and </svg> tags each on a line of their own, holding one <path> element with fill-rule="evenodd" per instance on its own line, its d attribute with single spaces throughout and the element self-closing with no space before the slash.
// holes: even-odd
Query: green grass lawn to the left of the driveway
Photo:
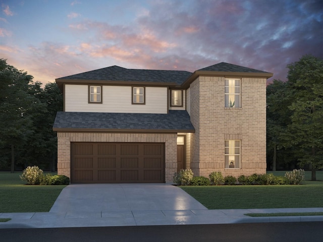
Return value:
<svg viewBox="0 0 323 242">
<path fill-rule="evenodd" d="M 28 186 L 21 174 L 0 172 L 0 213 L 49 212 L 66 186 Z"/>
</svg>

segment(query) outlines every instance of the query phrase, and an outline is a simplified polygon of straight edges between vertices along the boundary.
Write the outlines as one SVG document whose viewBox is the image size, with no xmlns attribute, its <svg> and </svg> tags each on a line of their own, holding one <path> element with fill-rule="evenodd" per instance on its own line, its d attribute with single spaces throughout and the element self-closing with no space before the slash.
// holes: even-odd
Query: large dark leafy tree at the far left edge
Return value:
<svg viewBox="0 0 323 242">
<path fill-rule="evenodd" d="M 0 146 L 11 149 L 11 172 L 15 170 L 15 148 L 33 134 L 32 115 L 41 108 L 32 94 L 33 77 L 0 59 Z"/>
</svg>

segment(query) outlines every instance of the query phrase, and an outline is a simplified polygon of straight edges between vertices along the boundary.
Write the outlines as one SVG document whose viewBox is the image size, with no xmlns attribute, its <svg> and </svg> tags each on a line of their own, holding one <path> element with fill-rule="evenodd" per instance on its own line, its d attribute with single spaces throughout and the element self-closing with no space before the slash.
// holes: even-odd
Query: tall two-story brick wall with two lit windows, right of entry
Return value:
<svg viewBox="0 0 323 242">
<path fill-rule="evenodd" d="M 224 77 L 199 77 L 191 84 L 191 168 L 239 176 L 266 171 L 266 79 L 241 79 L 241 108 L 225 108 Z M 193 90 L 198 90 L 192 93 Z M 241 140 L 240 168 L 225 168 L 226 139 Z"/>
</svg>

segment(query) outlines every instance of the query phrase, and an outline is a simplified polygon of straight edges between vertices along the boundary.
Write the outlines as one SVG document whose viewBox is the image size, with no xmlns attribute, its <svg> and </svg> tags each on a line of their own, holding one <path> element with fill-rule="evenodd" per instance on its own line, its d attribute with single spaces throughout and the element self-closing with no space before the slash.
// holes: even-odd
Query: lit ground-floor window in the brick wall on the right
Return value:
<svg viewBox="0 0 323 242">
<path fill-rule="evenodd" d="M 225 168 L 240 168 L 240 140 L 225 141 Z"/>
</svg>

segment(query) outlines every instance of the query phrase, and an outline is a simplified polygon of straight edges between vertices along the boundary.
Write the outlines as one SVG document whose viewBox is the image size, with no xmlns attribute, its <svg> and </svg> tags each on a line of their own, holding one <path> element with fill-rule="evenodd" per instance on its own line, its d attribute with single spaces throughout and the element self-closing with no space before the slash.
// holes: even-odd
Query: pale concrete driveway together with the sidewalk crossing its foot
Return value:
<svg viewBox="0 0 323 242">
<path fill-rule="evenodd" d="M 11 218 L 0 228 L 323 221 L 323 216 L 244 215 L 281 212 L 323 212 L 323 208 L 208 210 L 170 184 L 80 184 L 63 189 L 49 212 L 0 214 Z"/>
</svg>

